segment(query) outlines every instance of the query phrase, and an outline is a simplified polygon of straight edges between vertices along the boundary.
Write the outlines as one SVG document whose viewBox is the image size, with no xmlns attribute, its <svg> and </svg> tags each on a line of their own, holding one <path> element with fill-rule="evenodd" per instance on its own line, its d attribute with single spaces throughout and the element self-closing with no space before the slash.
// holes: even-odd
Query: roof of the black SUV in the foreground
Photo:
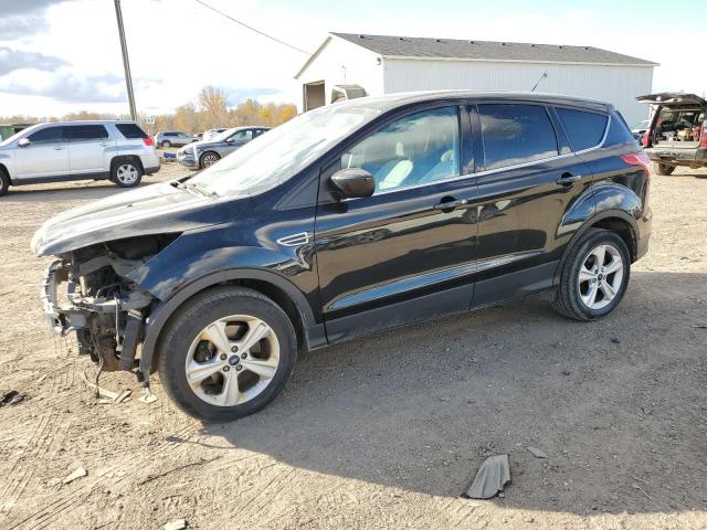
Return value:
<svg viewBox="0 0 707 530">
<path fill-rule="evenodd" d="M 583 97 L 561 96 L 559 94 L 542 94 L 538 92 L 514 92 L 514 91 L 418 91 L 387 94 L 384 96 L 359 97 L 335 105 L 348 106 L 349 108 L 371 108 L 379 112 L 387 112 L 403 105 L 424 103 L 431 100 L 511 100 L 511 102 L 537 102 L 549 105 L 568 105 L 595 110 L 610 112 L 613 106 L 610 103 Z"/>
</svg>

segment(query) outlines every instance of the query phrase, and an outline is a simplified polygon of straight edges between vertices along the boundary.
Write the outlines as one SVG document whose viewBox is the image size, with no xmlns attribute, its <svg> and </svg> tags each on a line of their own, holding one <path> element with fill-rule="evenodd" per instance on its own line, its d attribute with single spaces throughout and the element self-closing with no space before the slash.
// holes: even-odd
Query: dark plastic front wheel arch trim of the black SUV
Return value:
<svg viewBox="0 0 707 530">
<path fill-rule="evenodd" d="M 152 311 L 146 324 L 143 340 L 140 372 L 144 378 L 155 371 L 157 365 L 155 352 L 158 349 L 162 330 L 179 308 L 207 289 L 228 285 L 251 288 L 277 304 L 295 328 L 299 350 L 310 350 L 326 346 L 327 339 L 324 325 L 316 324 L 309 303 L 304 294 L 291 282 L 275 273 L 257 268 L 226 269 L 209 274 L 186 285 Z"/>
</svg>

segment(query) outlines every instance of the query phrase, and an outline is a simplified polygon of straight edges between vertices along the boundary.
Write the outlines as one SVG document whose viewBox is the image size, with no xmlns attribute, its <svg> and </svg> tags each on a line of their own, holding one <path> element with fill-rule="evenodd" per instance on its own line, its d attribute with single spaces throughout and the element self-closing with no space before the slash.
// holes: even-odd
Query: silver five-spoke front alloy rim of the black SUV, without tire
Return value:
<svg viewBox="0 0 707 530">
<path fill-rule="evenodd" d="M 232 315 L 203 328 L 187 353 L 184 374 L 193 393 L 217 406 L 235 406 L 261 394 L 279 365 L 279 342 L 260 318 Z"/>
</svg>

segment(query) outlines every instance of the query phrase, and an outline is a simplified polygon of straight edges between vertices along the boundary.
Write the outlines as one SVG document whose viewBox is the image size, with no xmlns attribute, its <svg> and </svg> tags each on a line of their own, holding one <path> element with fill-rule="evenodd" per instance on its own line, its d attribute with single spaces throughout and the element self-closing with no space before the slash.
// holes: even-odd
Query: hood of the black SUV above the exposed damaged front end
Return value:
<svg viewBox="0 0 707 530">
<path fill-rule="evenodd" d="M 147 186 L 67 210 L 34 233 L 38 256 L 74 251 L 107 241 L 184 232 L 238 219 L 249 197 L 211 198 L 172 182 Z"/>
</svg>

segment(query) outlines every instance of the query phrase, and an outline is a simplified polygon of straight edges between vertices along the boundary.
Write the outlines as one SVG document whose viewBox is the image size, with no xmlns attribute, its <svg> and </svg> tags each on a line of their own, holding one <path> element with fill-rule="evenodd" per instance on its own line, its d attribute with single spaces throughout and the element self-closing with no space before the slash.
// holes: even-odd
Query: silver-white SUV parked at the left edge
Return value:
<svg viewBox="0 0 707 530">
<path fill-rule="evenodd" d="M 0 142 L 0 195 L 10 186 L 109 179 L 120 188 L 159 170 L 152 139 L 134 121 L 60 121 Z"/>
</svg>

